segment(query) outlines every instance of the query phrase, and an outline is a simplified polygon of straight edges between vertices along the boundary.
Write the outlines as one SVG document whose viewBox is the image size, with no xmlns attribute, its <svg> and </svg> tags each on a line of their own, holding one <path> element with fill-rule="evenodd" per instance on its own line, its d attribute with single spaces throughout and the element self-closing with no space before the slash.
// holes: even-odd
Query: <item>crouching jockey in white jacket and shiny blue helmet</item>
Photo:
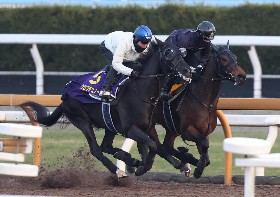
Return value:
<svg viewBox="0 0 280 197">
<path fill-rule="evenodd" d="M 107 74 L 99 93 L 101 98 L 114 98 L 111 94 L 112 79 L 118 72 L 127 76 L 140 76 L 139 71 L 130 68 L 130 63 L 135 61 L 141 52 L 147 51 L 151 39 L 152 32 L 145 25 L 136 28 L 134 33 L 115 31 L 106 36 L 100 45 L 100 53 L 112 64 L 113 68 Z"/>
</svg>

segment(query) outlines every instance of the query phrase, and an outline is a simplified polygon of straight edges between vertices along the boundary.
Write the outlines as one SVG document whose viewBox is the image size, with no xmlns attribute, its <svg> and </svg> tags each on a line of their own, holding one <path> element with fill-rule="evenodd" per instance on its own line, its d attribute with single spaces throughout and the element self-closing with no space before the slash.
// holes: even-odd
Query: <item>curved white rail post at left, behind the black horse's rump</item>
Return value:
<svg viewBox="0 0 280 197">
<path fill-rule="evenodd" d="M 30 53 L 32 55 L 36 67 L 36 94 L 42 95 L 44 94 L 44 65 L 39 50 L 37 48 L 37 44 L 32 44 L 32 48 L 30 48 Z"/>
</svg>

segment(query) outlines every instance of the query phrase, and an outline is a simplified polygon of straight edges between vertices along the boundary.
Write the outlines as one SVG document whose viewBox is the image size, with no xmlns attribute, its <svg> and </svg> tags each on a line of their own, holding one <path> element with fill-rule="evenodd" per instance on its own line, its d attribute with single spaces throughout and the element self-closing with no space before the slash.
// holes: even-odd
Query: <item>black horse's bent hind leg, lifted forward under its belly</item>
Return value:
<svg viewBox="0 0 280 197">
<path fill-rule="evenodd" d="M 106 152 L 108 154 L 114 155 L 114 158 L 124 161 L 127 164 L 127 171 L 129 173 L 134 173 L 134 167 L 139 167 L 142 165 L 142 162 L 138 159 L 134 159 L 131 157 L 131 154 L 113 147 L 113 140 L 115 138 L 115 133 L 112 131 L 105 129 L 105 135 L 103 141 L 101 143 L 102 152 Z"/>
</svg>

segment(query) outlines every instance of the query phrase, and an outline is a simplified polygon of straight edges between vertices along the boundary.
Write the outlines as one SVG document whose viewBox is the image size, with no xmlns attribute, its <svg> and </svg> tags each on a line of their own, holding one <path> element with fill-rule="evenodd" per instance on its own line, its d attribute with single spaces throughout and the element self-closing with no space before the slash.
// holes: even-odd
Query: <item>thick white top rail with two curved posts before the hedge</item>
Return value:
<svg viewBox="0 0 280 197">
<path fill-rule="evenodd" d="M 43 94 L 43 62 L 36 44 L 83 44 L 99 45 L 105 34 L 0 34 L 0 43 L 4 44 L 32 44 L 31 54 L 33 55 L 37 77 L 36 94 Z M 165 40 L 168 35 L 154 35 L 160 40 Z M 254 68 L 254 98 L 261 98 L 261 64 L 255 46 L 280 46 L 280 36 L 215 36 L 213 44 L 224 46 L 230 40 L 231 46 L 250 46 L 248 55 Z M 32 52 L 33 51 L 33 52 Z M 39 56 L 38 56 L 39 54 Z"/>
</svg>

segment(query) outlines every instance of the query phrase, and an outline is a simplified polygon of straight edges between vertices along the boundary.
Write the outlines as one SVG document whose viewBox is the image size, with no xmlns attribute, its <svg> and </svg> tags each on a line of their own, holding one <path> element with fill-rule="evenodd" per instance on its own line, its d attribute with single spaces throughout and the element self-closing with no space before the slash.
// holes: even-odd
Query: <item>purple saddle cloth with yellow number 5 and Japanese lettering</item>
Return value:
<svg viewBox="0 0 280 197">
<path fill-rule="evenodd" d="M 102 88 L 107 74 L 105 68 L 96 73 L 88 73 L 75 77 L 72 81 L 69 81 L 64 88 L 61 100 L 64 100 L 69 95 L 72 98 L 78 99 L 82 103 L 102 103 L 102 100 L 98 94 Z M 125 76 L 117 84 L 120 85 L 128 77 Z M 112 94 L 116 97 L 118 87 L 113 87 Z"/>
</svg>

